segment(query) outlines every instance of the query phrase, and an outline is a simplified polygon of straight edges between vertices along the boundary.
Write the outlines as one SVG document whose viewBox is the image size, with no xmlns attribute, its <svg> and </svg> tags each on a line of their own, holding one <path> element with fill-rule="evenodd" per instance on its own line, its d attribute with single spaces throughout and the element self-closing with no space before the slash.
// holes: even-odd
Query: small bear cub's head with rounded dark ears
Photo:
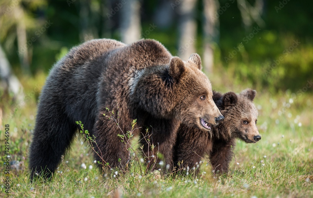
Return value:
<svg viewBox="0 0 313 198">
<path fill-rule="evenodd" d="M 246 89 L 239 95 L 227 92 L 220 99 L 214 99 L 225 116 L 222 125 L 228 137 L 239 138 L 246 143 L 256 143 L 261 139 L 256 126 L 258 110 L 253 103 L 255 95 L 255 90 Z"/>
</svg>

